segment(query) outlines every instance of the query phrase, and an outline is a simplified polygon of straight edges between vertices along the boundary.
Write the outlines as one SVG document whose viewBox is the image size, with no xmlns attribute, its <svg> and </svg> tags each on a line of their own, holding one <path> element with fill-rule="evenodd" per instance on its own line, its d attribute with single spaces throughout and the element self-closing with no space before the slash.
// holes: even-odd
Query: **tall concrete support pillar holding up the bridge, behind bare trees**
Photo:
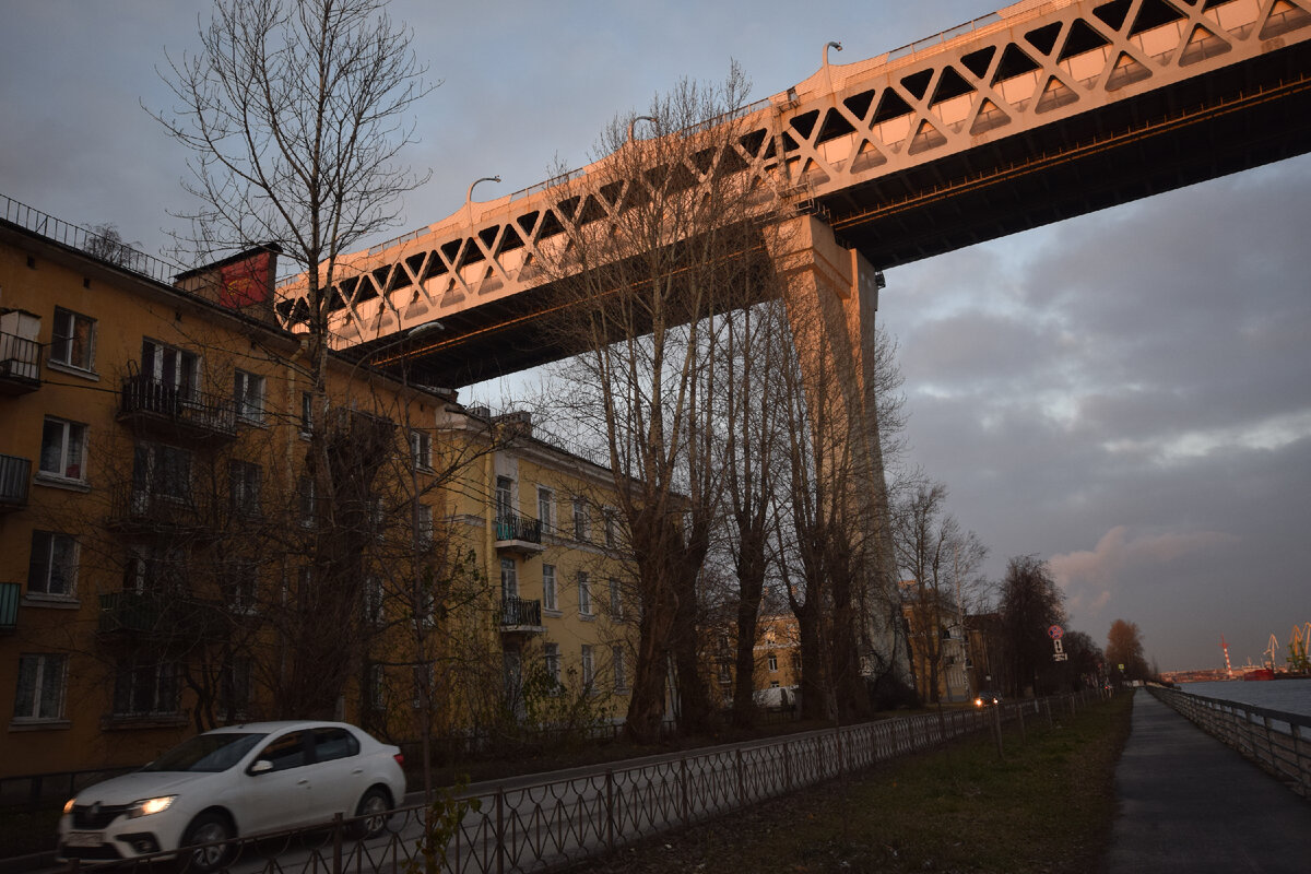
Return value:
<svg viewBox="0 0 1311 874">
<path fill-rule="evenodd" d="M 865 676 L 909 681 L 888 485 L 878 439 L 876 322 L 881 275 L 822 219 L 802 215 L 768 228 L 766 248 L 781 280 L 810 414 L 817 478 L 836 484 L 855 567 L 853 616 Z"/>
</svg>

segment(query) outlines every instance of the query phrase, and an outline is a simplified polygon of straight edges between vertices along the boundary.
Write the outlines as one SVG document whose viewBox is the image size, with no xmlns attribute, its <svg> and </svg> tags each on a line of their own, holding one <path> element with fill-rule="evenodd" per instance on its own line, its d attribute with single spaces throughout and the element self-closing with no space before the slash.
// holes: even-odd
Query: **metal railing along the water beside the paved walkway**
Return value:
<svg viewBox="0 0 1311 874">
<path fill-rule="evenodd" d="M 1311 717 L 1150 687 L 1162 702 L 1311 798 Z"/>
</svg>

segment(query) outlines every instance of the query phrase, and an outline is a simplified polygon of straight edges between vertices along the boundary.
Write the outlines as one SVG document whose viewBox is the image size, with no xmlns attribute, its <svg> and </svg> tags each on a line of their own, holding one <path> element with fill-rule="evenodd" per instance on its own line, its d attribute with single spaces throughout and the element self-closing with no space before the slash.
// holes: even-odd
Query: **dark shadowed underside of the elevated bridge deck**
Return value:
<svg viewBox="0 0 1311 874">
<path fill-rule="evenodd" d="M 817 197 L 812 207 L 882 269 L 1308 151 L 1311 42 L 1299 42 Z M 410 379 L 443 387 L 558 360 L 568 350 L 548 333 L 551 300 L 538 288 L 447 314 L 438 339 L 395 351 Z"/>
</svg>

